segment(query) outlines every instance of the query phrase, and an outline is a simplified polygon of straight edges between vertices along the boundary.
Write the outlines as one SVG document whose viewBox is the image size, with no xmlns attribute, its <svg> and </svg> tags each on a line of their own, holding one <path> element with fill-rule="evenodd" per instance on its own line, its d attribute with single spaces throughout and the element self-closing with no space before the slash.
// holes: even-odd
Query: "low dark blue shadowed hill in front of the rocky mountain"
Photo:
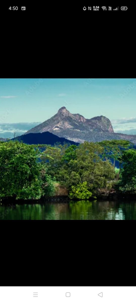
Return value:
<svg viewBox="0 0 136 303">
<path fill-rule="evenodd" d="M 54 145 L 57 142 L 60 142 L 61 144 L 64 143 L 70 143 L 70 144 L 76 144 L 73 141 L 67 140 L 65 138 L 60 138 L 56 135 L 53 135 L 50 132 L 43 132 L 43 133 L 29 133 L 26 135 L 21 135 L 16 138 L 13 138 L 11 140 L 18 140 L 23 141 L 27 144 L 50 144 Z"/>
</svg>

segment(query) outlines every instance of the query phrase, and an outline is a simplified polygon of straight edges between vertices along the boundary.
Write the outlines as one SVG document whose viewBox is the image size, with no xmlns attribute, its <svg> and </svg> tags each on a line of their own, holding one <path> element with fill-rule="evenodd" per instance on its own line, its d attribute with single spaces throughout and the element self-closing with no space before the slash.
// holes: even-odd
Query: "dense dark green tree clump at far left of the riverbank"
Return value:
<svg viewBox="0 0 136 303">
<path fill-rule="evenodd" d="M 42 168 L 31 145 L 0 142 L 0 197 L 39 199 L 44 195 Z"/>
</svg>

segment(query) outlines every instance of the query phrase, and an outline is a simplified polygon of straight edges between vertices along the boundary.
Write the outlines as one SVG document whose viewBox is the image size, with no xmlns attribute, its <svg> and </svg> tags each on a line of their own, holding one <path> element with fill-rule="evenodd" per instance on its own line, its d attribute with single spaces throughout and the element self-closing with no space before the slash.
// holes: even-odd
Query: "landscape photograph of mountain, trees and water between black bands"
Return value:
<svg viewBox="0 0 136 303">
<path fill-rule="evenodd" d="M 136 79 L 0 79 L 0 220 L 136 220 Z"/>
</svg>

